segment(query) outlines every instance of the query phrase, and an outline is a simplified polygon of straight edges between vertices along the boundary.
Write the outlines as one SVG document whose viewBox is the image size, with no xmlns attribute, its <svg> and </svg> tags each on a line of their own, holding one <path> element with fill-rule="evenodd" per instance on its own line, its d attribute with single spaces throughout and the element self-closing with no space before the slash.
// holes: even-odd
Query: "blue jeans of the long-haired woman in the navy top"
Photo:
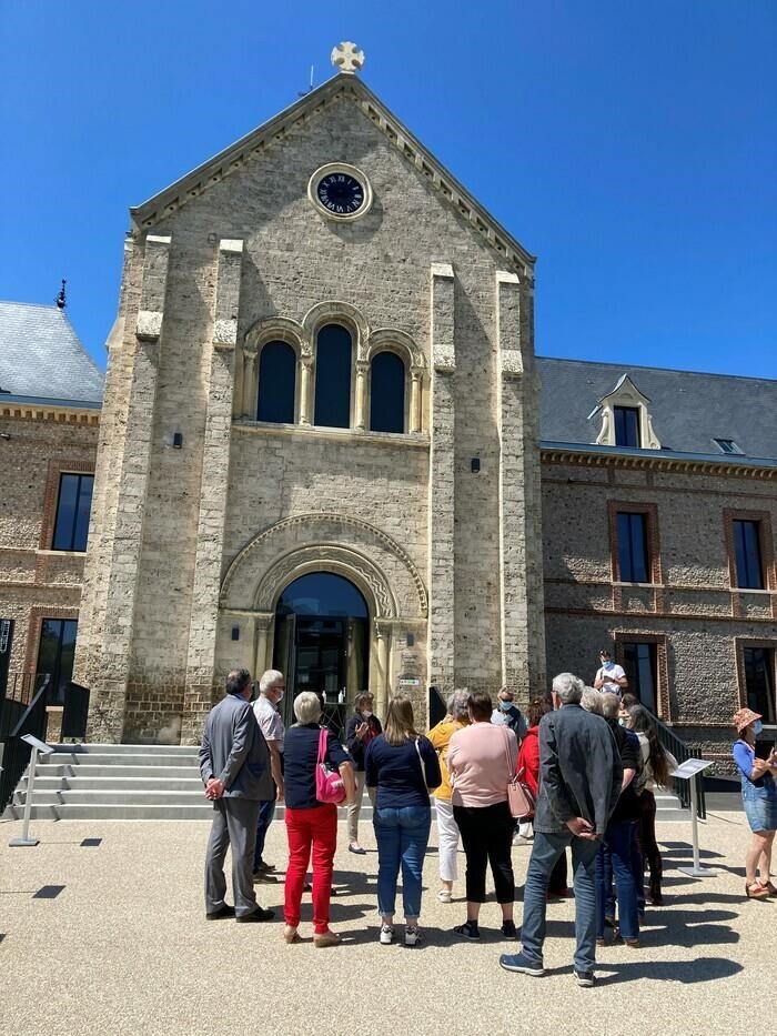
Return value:
<svg viewBox="0 0 777 1036">
<path fill-rule="evenodd" d="M 400 867 L 405 917 L 421 914 L 421 876 L 431 825 L 428 806 L 375 809 L 373 827 L 377 841 L 377 908 L 381 914 L 394 914 Z"/>
</svg>

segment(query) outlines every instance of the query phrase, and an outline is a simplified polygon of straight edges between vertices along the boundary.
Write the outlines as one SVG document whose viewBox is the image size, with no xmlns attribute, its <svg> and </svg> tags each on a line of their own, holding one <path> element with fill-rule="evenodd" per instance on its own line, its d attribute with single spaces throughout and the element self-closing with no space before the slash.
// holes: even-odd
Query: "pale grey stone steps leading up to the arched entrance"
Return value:
<svg viewBox="0 0 777 1036">
<path fill-rule="evenodd" d="M 4 816 L 20 818 L 28 775 L 20 781 Z M 669 792 L 656 795 L 656 819 L 689 822 L 690 813 Z M 202 789 L 198 750 L 185 745 L 57 745 L 39 757 L 33 819 L 208 821 L 213 812 Z M 345 809 L 339 811 L 341 818 Z M 372 819 L 366 793 L 363 821 Z M 434 805 L 432 807 L 434 818 Z M 275 819 L 283 818 L 283 806 Z"/>
</svg>

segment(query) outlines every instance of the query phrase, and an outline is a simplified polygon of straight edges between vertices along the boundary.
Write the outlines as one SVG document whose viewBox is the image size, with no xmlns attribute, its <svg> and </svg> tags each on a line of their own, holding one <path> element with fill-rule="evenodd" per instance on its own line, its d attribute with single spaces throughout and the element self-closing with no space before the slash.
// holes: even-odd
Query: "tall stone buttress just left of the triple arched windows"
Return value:
<svg viewBox="0 0 777 1036">
<path fill-rule="evenodd" d="M 213 703 L 219 589 L 224 549 L 224 517 L 230 471 L 234 356 L 243 242 L 219 245 L 213 343 L 208 385 L 208 412 L 202 453 L 202 484 L 198 519 L 196 561 L 189 625 L 186 687 L 181 743 L 196 744 Z M 255 353 L 254 353 L 255 355 Z"/>
</svg>

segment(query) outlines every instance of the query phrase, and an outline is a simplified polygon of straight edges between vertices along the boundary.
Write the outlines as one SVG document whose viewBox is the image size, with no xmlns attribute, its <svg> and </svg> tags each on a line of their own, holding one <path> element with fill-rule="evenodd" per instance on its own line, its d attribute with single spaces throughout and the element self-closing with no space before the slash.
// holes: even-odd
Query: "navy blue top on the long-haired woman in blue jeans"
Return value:
<svg viewBox="0 0 777 1036">
<path fill-rule="evenodd" d="M 367 745 L 364 761 L 367 787 L 377 788 L 375 806 L 379 809 L 401 809 L 404 806 L 426 806 L 431 788 L 443 783 L 440 761 L 432 743 L 426 737 L 418 738 L 418 751 L 424 761 L 421 770 L 415 743 L 406 741 L 401 745 L 390 745 L 385 734 L 373 738 Z"/>
</svg>

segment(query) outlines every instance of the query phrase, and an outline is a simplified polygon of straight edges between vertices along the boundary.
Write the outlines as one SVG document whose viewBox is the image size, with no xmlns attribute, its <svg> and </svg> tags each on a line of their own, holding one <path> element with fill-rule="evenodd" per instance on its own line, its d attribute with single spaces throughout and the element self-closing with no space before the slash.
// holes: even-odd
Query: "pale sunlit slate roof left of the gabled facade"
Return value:
<svg viewBox="0 0 777 1036">
<path fill-rule="evenodd" d="M 0 302 L 0 400 L 9 393 L 99 403 L 103 380 L 62 310 Z"/>
</svg>

